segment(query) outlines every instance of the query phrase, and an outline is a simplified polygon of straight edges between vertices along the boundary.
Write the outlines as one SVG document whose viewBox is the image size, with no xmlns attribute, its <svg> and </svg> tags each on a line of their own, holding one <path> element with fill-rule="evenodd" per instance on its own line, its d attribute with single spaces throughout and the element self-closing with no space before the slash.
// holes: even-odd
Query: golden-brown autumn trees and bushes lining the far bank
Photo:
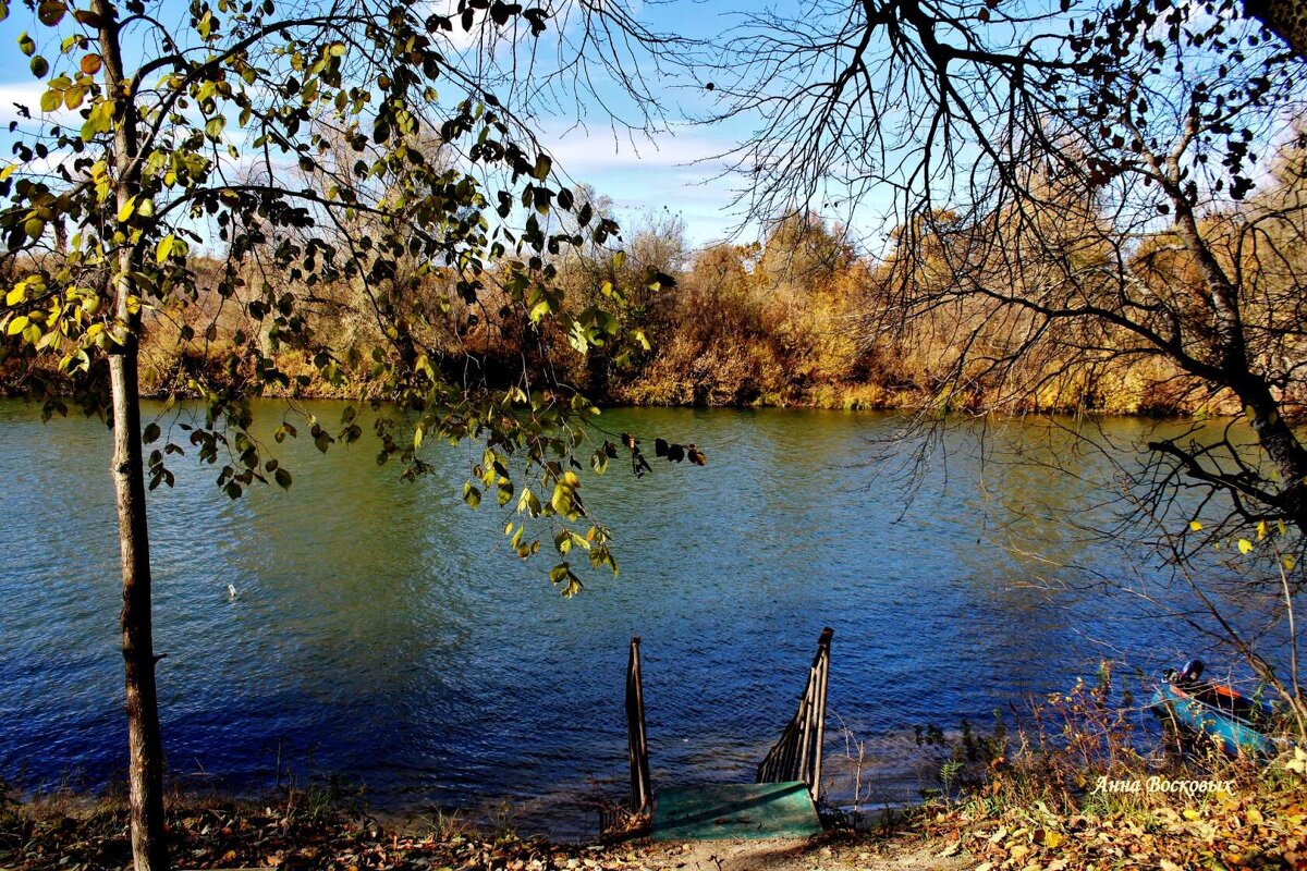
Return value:
<svg viewBox="0 0 1307 871">
<path fill-rule="evenodd" d="M 1307 150 L 1295 140 L 1253 193 L 1204 209 L 1199 222 L 1236 281 L 1249 358 L 1289 411 L 1298 407 L 1307 367 L 1304 167 Z M 346 377 L 353 371 L 366 379 L 367 360 L 352 349 L 375 343 L 375 311 L 389 307 L 414 324 L 433 360 L 469 379 L 529 380 L 548 368 L 548 383 L 608 404 L 1231 410 L 1226 396 L 1172 366 L 1158 342 L 1141 340 L 1140 330 L 1155 330 L 1183 337 L 1184 350 L 1200 359 L 1214 353 L 1204 346 L 1216 323 L 1206 285 L 1171 217 L 1133 208 L 1129 191 L 1084 180 L 1031 171 L 1025 187 L 1019 198 L 967 212 L 923 210 L 876 256 L 814 215 L 779 221 L 754 243 L 699 249 L 676 218 L 637 219 L 621 243 L 587 242 L 549 264 L 557 307 L 604 303 L 620 312 L 629 341 L 587 355 L 549 319 L 532 319 L 528 306 L 497 289 L 495 276 L 468 276 L 456 265 L 412 281 L 400 264 L 393 291 L 357 282 L 316 287 L 301 311 L 336 349 Z M 605 213 L 608 204 L 592 191 L 576 196 L 592 197 L 596 213 Z M 614 257 L 614 247 L 623 253 Z M 260 336 L 264 321 L 251 317 L 251 302 L 267 311 L 295 281 L 281 269 L 256 274 L 247 266 L 246 298 L 223 300 L 203 290 L 210 283 L 203 276 L 223 269 L 221 259 L 197 265 L 201 290 L 191 306 L 203 316 L 154 313 L 142 351 L 148 392 L 184 393 L 207 379 L 248 376 L 209 362 L 223 359 L 220 351 L 238 333 Z M 674 286 L 651 282 L 659 273 Z M 482 286 L 472 304 L 459 293 L 459 281 L 469 279 Z M 170 328 L 182 323 L 208 328 Z M 276 337 L 250 345 L 293 375 L 286 392 L 344 394 L 340 384 L 324 383 L 314 360 L 278 349 Z M 21 372 L 9 367 L 5 376 L 13 384 Z"/>
</svg>

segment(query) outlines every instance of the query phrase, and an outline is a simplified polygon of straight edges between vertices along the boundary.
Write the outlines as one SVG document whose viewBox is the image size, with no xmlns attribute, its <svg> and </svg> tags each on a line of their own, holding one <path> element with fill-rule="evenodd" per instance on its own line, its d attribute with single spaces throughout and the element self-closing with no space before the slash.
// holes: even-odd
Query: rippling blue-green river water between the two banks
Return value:
<svg viewBox="0 0 1307 871">
<path fill-rule="evenodd" d="M 897 750 L 912 725 L 988 722 L 1091 670 L 1104 646 L 1153 666 L 1188 644 L 1120 619 L 1125 594 L 1036 589 L 1082 580 L 1059 564 L 1125 580 L 1112 548 L 1057 520 L 1106 525 L 1125 452 L 1077 454 L 1068 439 L 1016 464 L 1002 460 L 1034 424 L 955 434 L 904 513 L 903 483 L 867 461 L 893 426 L 882 415 L 625 410 L 604 423 L 695 441 L 710 462 L 587 475 L 622 575 L 571 601 L 548 563 L 510 554 L 503 509 L 463 505 L 467 448 L 405 484 L 366 440 L 325 457 L 285 445 L 291 491 L 239 501 L 212 486 L 216 470 L 179 461 L 176 488 L 150 500 L 173 770 L 251 789 L 278 764 L 341 773 L 380 807 L 510 799 L 570 831 L 591 778 L 622 789 L 631 635 L 644 637 L 655 782 L 670 786 L 752 780 L 831 626 L 831 722 L 868 739 L 873 794 L 901 800 L 918 787 Z M 1128 444 L 1151 424 L 1103 426 Z M 982 444 L 995 462 L 976 462 Z M 102 423 L 42 424 L 0 404 L 0 774 L 29 784 L 98 785 L 124 764 L 107 451 Z"/>
</svg>

